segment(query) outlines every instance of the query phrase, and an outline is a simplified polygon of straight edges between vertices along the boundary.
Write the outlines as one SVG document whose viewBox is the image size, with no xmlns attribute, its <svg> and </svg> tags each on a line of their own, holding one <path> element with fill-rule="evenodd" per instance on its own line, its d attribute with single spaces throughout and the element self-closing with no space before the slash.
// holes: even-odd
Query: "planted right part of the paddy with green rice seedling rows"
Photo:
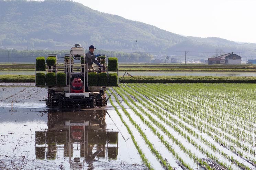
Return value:
<svg viewBox="0 0 256 170">
<path fill-rule="evenodd" d="M 144 138 L 149 150 L 166 168 L 175 168 L 166 161 L 171 158 L 163 157 L 154 148 L 129 112 L 137 115 L 151 129 L 182 168 L 194 169 L 187 163 L 192 158 L 205 169 L 256 169 L 256 102 L 251 94 L 255 94 L 255 87 L 254 84 L 131 83 L 117 88 L 120 101 L 116 95 L 114 98 Z M 237 106 L 241 102 L 241 106 Z M 124 104 L 130 108 L 129 112 Z M 241 123 L 243 120 L 246 124 Z M 136 146 L 136 139 L 133 142 Z M 140 150 L 138 145 L 136 148 Z M 181 152 L 189 158 L 182 156 Z M 199 153 L 204 156 L 199 157 Z M 145 155 L 142 157 L 147 160 Z M 145 160 L 145 164 L 152 168 Z"/>
</svg>

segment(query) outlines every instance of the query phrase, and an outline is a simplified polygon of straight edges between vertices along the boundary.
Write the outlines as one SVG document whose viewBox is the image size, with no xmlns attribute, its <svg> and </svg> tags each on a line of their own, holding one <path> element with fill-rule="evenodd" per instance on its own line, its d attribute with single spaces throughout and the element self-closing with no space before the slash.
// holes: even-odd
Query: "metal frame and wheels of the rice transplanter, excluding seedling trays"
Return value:
<svg viewBox="0 0 256 170">
<path fill-rule="evenodd" d="M 46 104 L 48 106 L 59 106 L 59 108 L 64 107 L 82 107 L 82 108 L 94 108 L 95 106 L 105 106 L 107 105 L 105 91 L 110 87 L 100 87 L 88 85 L 88 73 L 97 72 L 97 77 L 99 72 L 107 73 L 107 80 L 109 81 L 109 71 L 108 71 L 108 57 L 105 56 L 105 62 L 103 63 L 103 68 L 96 68 L 93 70 L 88 69 L 88 63 L 85 63 L 85 48 L 80 44 L 75 44 L 70 49 L 70 54 L 65 55 L 63 65 L 60 64 L 57 55 L 50 54 L 48 56 L 56 57 L 56 64 L 54 67 L 49 66 L 45 70 L 45 75 L 47 72 L 55 72 L 57 80 L 57 72 L 66 73 L 66 86 L 41 86 L 48 90 L 48 99 Z M 104 56 L 104 55 L 103 55 Z M 67 58 L 69 59 L 67 60 Z M 84 57 L 84 63 L 81 64 L 81 59 Z M 80 61 L 78 64 L 76 61 Z M 116 72 L 118 75 L 118 70 L 111 71 Z M 79 77 L 84 83 L 84 90 L 82 93 L 72 93 L 70 91 L 71 82 L 74 78 Z"/>
</svg>

